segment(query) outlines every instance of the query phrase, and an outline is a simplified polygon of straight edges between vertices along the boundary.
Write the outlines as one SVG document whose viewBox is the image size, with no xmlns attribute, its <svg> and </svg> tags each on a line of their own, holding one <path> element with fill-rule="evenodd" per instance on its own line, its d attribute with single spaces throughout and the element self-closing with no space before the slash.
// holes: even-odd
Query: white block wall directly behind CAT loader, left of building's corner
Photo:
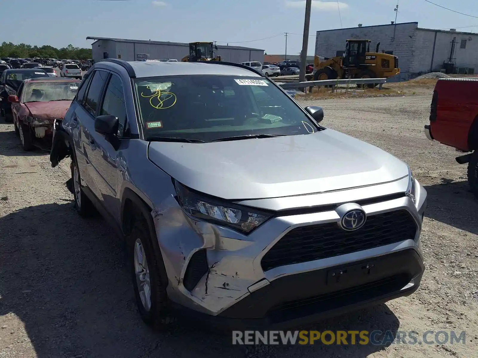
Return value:
<svg viewBox="0 0 478 358">
<path fill-rule="evenodd" d="M 417 39 L 417 28 L 418 22 L 409 22 L 396 25 L 388 24 L 317 31 L 315 54 L 333 57 L 337 50 L 345 50 L 347 39 L 371 40 L 371 52 L 375 52 L 377 43 L 380 42 L 379 52 L 381 50 L 393 51 L 393 54 L 398 57 L 401 73 L 398 76 L 392 77 L 389 81 L 408 80 L 414 71 L 413 58 L 415 56 L 414 48 Z"/>
</svg>

